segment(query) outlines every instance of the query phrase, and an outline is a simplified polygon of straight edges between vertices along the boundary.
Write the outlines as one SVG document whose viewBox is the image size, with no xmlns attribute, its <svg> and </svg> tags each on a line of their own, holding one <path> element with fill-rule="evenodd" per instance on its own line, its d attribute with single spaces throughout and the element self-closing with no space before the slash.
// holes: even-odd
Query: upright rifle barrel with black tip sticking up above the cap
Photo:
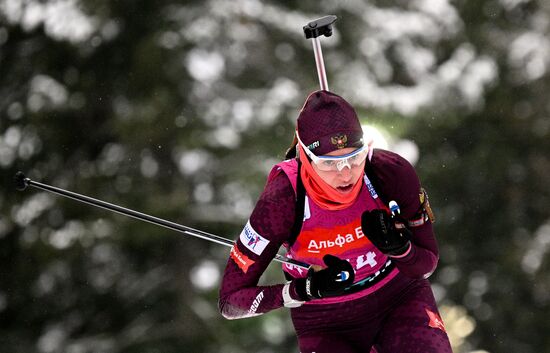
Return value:
<svg viewBox="0 0 550 353">
<path fill-rule="evenodd" d="M 312 39 L 313 54 L 315 55 L 315 65 L 317 66 L 317 75 L 319 76 L 319 85 L 321 90 L 328 91 L 327 74 L 325 71 L 325 62 L 323 60 L 323 51 L 321 50 L 321 41 L 319 36 L 330 37 L 332 35 L 332 24 L 337 20 L 334 15 L 318 18 L 304 26 L 306 39 Z"/>
</svg>

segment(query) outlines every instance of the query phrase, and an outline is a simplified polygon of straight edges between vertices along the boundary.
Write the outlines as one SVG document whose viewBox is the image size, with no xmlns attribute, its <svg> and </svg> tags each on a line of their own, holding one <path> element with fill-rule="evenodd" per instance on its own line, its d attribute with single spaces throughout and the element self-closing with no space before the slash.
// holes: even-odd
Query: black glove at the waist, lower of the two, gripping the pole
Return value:
<svg viewBox="0 0 550 353">
<path fill-rule="evenodd" d="M 310 268 L 306 278 L 295 279 L 296 293 L 301 300 L 342 295 L 344 289 L 353 284 L 355 272 L 348 261 L 325 255 L 323 262 L 326 268 L 317 272 Z"/>
</svg>

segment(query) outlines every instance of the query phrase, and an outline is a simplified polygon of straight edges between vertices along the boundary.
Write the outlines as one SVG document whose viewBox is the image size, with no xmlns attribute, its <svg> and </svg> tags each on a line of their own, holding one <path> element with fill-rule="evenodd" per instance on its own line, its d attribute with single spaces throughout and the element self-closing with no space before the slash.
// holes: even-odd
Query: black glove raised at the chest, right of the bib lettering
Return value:
<svg viewBox="0 0 550 353">
<path fill-rule="evenodd" d="M 405 226 L 396 228 L 395 221 L 397 219 L 384 210 L 365 211 L 361 215 L 361 228 L 378 250 L 387 255 L 399 256 L 408 250 L 411 232 Z"/>
</svg>

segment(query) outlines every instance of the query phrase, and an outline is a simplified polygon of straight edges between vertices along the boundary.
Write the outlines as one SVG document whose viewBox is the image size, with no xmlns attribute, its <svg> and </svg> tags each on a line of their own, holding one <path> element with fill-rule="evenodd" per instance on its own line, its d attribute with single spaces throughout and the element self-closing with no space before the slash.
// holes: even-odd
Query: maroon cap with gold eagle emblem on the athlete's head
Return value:
<svg viewBox="0 0 550 353">
<path fill-rule="evenodd" d="M 311 93 L 298 116 L 300 140 L 315 155 L 363 146 L 363 129 L 355 109 L 329 91 Z"/>
</svg>

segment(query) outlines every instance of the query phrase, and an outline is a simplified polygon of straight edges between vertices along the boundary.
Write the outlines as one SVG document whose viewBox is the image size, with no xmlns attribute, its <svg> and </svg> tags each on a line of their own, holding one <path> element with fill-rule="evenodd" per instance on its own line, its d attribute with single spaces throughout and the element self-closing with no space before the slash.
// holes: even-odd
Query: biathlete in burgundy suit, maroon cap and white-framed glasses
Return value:
<svg viewBox="0 0 550 353">
<path fill-rule="evenodd" d="M 308 96 L 294 144 L 231 249 L 222 315 L 289 307 L 302 353 L 452 352 L 427 280 L 439 253 L 414 168 L 365 143 L 353 107 L 328 91 Z M 313 266 L 285 263 L 288 282 L 259 286 L 281 246 Z"/>
</svg>

